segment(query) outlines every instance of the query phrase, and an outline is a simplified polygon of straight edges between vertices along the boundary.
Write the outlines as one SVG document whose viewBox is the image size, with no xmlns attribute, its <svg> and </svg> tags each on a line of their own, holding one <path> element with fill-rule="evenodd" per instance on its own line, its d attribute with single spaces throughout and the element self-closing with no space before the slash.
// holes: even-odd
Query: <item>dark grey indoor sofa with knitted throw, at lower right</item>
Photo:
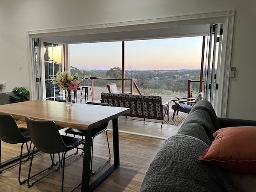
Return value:
<svg viewBox="0 0 256 192">
<path fill-rule="evenodd" d="M 256 121 L 217 118 L 211 103 L 207 100 L 198 101 L 177 134 L 166 139 L 159 148 L 149 165 L 140 192 L 256 191 L 256 175 L 223 168 L 212 160 L 199 160 L 205 151 L 219 141 L 216 139 L 218 131 L 241 130 L 242 126 L 255 131 Z M 236 134 L 232 139 L 239 136 L 240 134 Z M 253 156 L 255 159 L 255 152 Z M 240 163 L 223 162 L 226 165 Z M 250 167 L 255 172 L 255 161 L 253 163 Z M 239 167 L 239 164 L 235 167 Z"/>
</svg>

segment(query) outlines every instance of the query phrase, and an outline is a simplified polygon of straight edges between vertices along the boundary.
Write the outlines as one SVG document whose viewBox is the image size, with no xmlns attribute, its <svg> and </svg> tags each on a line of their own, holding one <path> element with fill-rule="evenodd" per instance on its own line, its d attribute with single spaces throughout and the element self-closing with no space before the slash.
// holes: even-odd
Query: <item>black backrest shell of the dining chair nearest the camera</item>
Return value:
<svg viewBox="0 0 256 192">
<path fill-rule="evenodd" d="M 30 139 L 39 151 L 48 154 L 64 152 L 64 144 L 54 121 L 38 121 L 26 117 Z"/>
</svg>

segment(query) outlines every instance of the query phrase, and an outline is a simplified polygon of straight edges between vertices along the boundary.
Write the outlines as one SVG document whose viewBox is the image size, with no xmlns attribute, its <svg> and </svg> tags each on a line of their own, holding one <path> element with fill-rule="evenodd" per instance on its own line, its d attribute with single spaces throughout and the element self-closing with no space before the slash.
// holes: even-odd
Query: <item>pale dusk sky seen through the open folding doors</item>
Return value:
<svg viewBox="0 0 256 192">
<path fill-rule="evenodd" d="M 125 41 L 125 69 L 198 69 L 202 37 Z M 79 69 L 122 68 L 122 41 L 70 44 L 70 64 Z"/>
</svg>

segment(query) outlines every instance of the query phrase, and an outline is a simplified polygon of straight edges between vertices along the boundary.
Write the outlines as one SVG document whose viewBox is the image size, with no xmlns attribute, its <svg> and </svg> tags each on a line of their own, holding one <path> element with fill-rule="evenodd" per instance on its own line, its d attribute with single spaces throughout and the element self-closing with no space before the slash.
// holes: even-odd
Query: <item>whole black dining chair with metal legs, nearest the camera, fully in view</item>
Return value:
<svg viewBox="0 0 256 192">
<path fill-rule="evenodd" d="M 70 162 L 65 162 L 65 155 L 68 151 L 77 148 L 78 145 L 81 145 L 84 143 L 83 139 L 75 138 L 75 137 L 69 137 L 69 136 L 63 136 L 60 135 L 60 132 L 54 123 L 54 121 L 38 121 L 33 120 L 31 118 L 26 117 L 27 122 L 27 128 L 28 132 L 30 134 L 30 139 L 34 144 L 31 161 L 30 161 L 30 168 L 29 168 L 29 174 L 28 174 L 28 180 L 27 184 L 29 187 L 33 186 L 38 181 L 42 180 L 42 178 L 47 177 L 49 174 L 52 174 L 54 171 L 57 171 L 61 167 L 62 170 L 62 184 L 61 184 L 61 191 L 63 192 L 64 187 L 64 171 L 65 171 L 65 165 Z M 58 154 L 59 157 L 59 166 L 58 168 L 54 169 L 50 173 L 42 176 L 38 180 L 34 181 L 33 183 L 30 183 L 30 179 L 35 177 L 38 174 L 41 174 L 42 172 L 52 168 L 54 166 L 53 158 L 51 156 L 52 164 L 50 167 L 45 168 L 44 170 L 40 171 L 37 174 L 34 174 L 30 177 L 31 169 L 32 169 L 32 162 L 34 158 L 34 151 L 35 148 L 37 148 L 39 151 L 46 153 L 46 154 Z M 60 158 L 60 153 L 62 153 L 62 157 Z M 74 160 L 73 158 L 72 160 Z"/>
</svg>

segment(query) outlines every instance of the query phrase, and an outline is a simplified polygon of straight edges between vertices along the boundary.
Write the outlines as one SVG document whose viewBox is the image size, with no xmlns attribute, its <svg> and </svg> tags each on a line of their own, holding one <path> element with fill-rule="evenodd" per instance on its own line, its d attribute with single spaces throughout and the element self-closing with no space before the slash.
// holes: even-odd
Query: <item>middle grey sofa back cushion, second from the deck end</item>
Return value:
<svg viewBox="0 0 256 192">
<path fill-rule="evenodd" d="M 203 109 L 197 109 L 196 111 L 191 111 L 188 115 L 188 117 L 185 119 L 184 123 L 182 124 L 182 127 L 180 129 L 183 129 L 183 126 L 190 123 L 198 123 L 202 125 L 204 128 L 208 138 L 212 142 L 214 140 L 213 133 L 217 130 L 215 129 L 211 117 L 208 114 L 207 111 Z"/>
</svg>

